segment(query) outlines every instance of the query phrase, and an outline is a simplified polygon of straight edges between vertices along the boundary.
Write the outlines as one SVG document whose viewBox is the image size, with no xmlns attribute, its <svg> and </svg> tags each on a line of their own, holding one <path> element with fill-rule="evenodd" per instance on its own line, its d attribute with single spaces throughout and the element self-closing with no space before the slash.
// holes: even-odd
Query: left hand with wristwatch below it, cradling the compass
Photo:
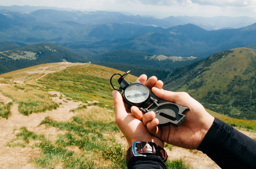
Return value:
<svg viewBox="0 0 256 169">
<path fill-rule="evenodd" d="M 147 80 L 146 75 L 140 75 L 137 80 L 146 85 L 150 90 L 152 87 L 159 89 L 163 87 L 163 82 L 157 81 L 156 77 L 151 77 Z M 132 106 L 131 109 L 128 109 L 123 103 L 122 96 L 118 91 L 114 90 L 112 95 L 114 97 L 116 123 L 126 137 L 129 146 L 133 145 L 134 141 L 148 141 L 164 147 L 164 142 L 156 136 L 151 135 L 142 121 L 132 115 L 138 114 L 140 110 L 136 106 Z"/>
</svg>

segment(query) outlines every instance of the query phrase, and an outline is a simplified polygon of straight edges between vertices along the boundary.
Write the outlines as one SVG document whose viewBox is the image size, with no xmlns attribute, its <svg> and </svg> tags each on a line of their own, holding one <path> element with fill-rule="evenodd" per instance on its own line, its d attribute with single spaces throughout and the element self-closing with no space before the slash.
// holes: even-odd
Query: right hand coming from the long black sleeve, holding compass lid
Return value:
<svg viewBox="0 0 256 169">
<path fill-rule="evenodd" d="M 134 110 L 134 117 L 143 120 L 148 131 L 160 140 L 182 148 L 197 149 L 214 122 L 214 117 L 206 112 L 202 104 L 185 92 L 171 92 L 155 87 L 152 88 L 152 92 L 160 99 L 189 108 L 189 111 L 184 113 L 186 120 L 178 127 L 159 127 L 154 112 L 143 114 L 138 108 Z"/>
</svg>

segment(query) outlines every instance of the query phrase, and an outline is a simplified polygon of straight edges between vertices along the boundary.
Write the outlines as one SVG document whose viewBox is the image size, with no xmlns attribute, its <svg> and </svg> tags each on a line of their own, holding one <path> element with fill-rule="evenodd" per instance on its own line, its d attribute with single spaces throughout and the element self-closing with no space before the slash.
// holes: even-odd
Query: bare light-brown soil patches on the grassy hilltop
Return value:
<svg viewBox="0 0 256 169">
<path fill-rule="evenodd" d="M 50 94 L 57 94 L 53 97 L 53 101 L 61 103 L 58 109 L 46 111 L 45 113 L 33 113 L 29 116 L 22 115 L 18 112 L 18 104 L 14 104 L 11 108 L 11 117 L 8 119 L 0 119 L 0 168 L 39 168 L 30 160 L 39 157 L 40 150 L 38 148 L 15 147 L 10 148 L 6 146 L 8 141 L 16 138 L 16 129 L 20 127 L 27 127 L 29 131 L 36 134 L 43 134 L 50 140 L 55 140 L 57 134 L 63 134 L 63 131 L 54 127 L 46 127 L 40 122 L 45 117 L 50 117 L 56 121 L 69 121 L 75 114 L 71 113 L 71 109 L 77 108 L 81 103 L 72 100 L 59 99 L 59 92 L 50 92 Z M 62 98 L 66 99 L 62 95 Z M 8 97 L 0 94 L 0 102 L 8 103 L 11 100 Z M 256 137 L 255 133 L 242 131 L 250 137 Z M 167 151 L 170 160 L 182 159 L 191 168 L 220 168 L 207 155 L 197 150 L 188 150 L 174 146 L 172 151 Z"/>
</svg>

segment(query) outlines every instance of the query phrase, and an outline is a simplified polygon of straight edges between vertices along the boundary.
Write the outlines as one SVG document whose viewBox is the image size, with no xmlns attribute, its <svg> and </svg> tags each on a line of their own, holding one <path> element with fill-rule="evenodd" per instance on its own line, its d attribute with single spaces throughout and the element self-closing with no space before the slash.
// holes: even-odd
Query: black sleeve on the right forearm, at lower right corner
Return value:
<svg viewBox="0 0 256 169">
<path fill-rule="evenodd" d="M 217 118 L 198 150 L 221 168 L 256 168 L 256 141 Z"/>
</svg>

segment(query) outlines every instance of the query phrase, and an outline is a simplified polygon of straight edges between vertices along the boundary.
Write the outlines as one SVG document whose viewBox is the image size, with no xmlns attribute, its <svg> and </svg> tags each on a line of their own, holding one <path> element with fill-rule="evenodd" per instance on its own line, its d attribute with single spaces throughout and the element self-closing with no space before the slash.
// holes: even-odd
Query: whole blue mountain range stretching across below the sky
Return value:
<svg viewBox="0 0 256 169">
<path fill-rule="evenodd" d="M 207 57 L 236 47 L 256 48 L 253 18 L 208 19 L 212 25 L 217 25 L 214 20 L 247 24 L 240 24 L 245 26 L 242 28 L 225 25 L 229 29 L 206 30 L 199 27 L 202 23 L 207 25 L 204 17 L 156 19 L 120 12 L 22 8 L 0 7 L 1 41 L 27 45 L 51 42 L 92 57 L 120 49 L 153 55 Z"/>
</svg>

